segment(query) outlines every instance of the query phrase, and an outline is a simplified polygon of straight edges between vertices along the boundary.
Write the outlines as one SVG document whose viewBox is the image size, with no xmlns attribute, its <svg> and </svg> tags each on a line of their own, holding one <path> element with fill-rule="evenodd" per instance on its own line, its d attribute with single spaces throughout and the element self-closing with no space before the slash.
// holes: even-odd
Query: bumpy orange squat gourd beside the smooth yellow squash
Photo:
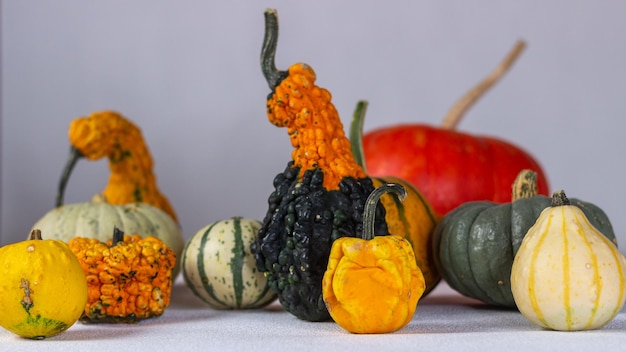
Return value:
<svg viewBox="0 0 626 352">
<path fill-rule="evenodd" d="M 156 237 L 125 236 L 107 243 L 75 237 L 69 247 L 87 277 L 81 322 L 134 323 L 163 314 L 170 303 L 174 251 Z"/>
</svg>

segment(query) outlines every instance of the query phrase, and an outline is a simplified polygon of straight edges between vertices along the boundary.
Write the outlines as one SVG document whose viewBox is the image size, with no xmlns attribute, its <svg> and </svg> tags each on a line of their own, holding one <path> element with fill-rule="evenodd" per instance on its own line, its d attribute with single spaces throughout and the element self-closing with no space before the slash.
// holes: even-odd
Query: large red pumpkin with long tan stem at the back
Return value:
<svg viewBox="0 0 626 352">
<path fill-rule="evenodd" d="M 403 124 L 366 133 L 363 151 L 368 173 L 409 181 L 441 215 L 468 201 L 510 202 L 511 185 L 522 169 L 537 173 L 538 193 L 547 195 L 545 173 L 528 152 L 499 138 L 454 130 L 469 107 L 512 65 L 524 45 L 518 42 L 500 66 L 450 110 L 443 126 Z"/>
</svg>

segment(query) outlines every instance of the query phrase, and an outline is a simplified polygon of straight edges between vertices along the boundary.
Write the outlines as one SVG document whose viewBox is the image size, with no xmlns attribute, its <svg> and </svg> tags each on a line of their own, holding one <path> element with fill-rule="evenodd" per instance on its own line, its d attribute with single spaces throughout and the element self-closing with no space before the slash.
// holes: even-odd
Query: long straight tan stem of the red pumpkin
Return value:
<svg viewBox="0 0 626 352">
<path fill-rule="evenodd" d="M 469 92 L 465 93 L 463 97 L 448 111 L 448 114 L 443 119 L 441 127 L 449 130 L 453 130 L 461 122 L 461 118 L 469 108 L 481 97 L 489 88 L 498 82 L 498 80 L 509 70 L 518 56 L 522 53 L 526 43 L 523 40 L 518 40 L 513 49 L 504 58 L 504 60 L 493 70 L 485 79 L 483 79 L 478 85 L 472 88 Z"/>
</svg>

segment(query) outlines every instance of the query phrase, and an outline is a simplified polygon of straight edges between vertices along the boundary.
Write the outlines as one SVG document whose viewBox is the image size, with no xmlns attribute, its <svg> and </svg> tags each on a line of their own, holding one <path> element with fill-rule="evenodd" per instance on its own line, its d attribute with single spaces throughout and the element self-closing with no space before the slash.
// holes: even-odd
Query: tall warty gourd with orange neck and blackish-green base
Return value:
<svg viewBox="0 0 626 352">
<path fill-rule="evenodd" d="M 276 69 L 277 37 L 277 13 L 267 10 L 261 51 L 272 91 L 267 117 L 287 128 L 294 149 L 285 171 L 274 178 L 251 252 L 286 311 L 303 320 L 330 320 L 322 298 L 330 248 L 337 238 L 360 236 L 374 186 L 352 154 L 330 92 L 315 85 L 313 69 L 302 63 Z M 377 211 L 376 234 L 388 234 L 382 204 Z"/>
</svg>

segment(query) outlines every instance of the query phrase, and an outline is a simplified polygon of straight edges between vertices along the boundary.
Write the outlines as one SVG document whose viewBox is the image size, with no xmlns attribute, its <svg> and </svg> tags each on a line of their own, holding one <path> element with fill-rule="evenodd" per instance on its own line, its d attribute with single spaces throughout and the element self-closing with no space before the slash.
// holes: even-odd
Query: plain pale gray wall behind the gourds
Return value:
<svg viewBox="0 0 626 352">
<path fill-rule="evenodd" d="M 143 130 L 185 236 L 261 219 L 291 153 L 265 115 L 263 11 L 278 9 L 277 66 L 306 62 L 347 126 L 438 124 L 518 39 L 513 69 L 463 131 L 526 149 L 551 189 L 601 206 L 626 248 L 623 1 L 2 1 L 0 241 L 52 209 L 70 121 L 114 109 Z M 79 163 L 66 202 L 101 191 L 107 162 Z"/>
</svg>

